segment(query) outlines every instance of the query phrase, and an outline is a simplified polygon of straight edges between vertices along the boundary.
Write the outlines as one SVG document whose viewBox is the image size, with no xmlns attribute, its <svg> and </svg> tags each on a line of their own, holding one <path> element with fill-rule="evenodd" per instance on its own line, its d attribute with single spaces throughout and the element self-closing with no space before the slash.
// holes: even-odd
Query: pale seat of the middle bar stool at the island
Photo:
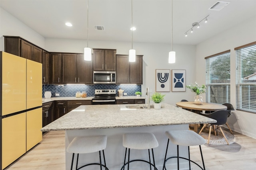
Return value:
<svg viewBox="0 0 256 170">
<path fill-rule="evenodd" d="M 153 149 L 158 147 L 158 141 L 152 133 L 125 133 L 123 146 L 130 149 Z"/>
</svg>

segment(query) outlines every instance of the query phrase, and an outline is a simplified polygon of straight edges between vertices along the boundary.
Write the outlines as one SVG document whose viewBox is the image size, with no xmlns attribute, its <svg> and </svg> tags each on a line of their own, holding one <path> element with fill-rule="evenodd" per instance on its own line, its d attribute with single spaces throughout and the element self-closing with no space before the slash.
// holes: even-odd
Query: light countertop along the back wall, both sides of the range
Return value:
<svg viewBox="0 0 256 170">
<path fill-rule="evenodd" d="M 57 97 L 57 98 L 42 98 L 42 103 L 52 102 L 55 100 L 92 100 L 93 97 L 86 97 L 86 98 L 76 98 L 76 97 Z M 128 99 L 146 99 L 144 97 L 137 97 L 137 96 L 123 96 L 123 97 L 117 97 L 116 100 L 128 100 Z"/>
</svg>

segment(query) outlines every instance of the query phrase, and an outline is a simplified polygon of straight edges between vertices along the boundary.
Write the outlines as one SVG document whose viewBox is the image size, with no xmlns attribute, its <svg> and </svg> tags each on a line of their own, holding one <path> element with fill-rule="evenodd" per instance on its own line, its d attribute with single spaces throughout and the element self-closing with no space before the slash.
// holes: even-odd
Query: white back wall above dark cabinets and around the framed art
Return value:
<svg viewBox="0 0 256 170">
<path fill-rule="evenodd" d="M 83 48 L 87 41 L 76 39 L 46 39 L 46 49 L 52 52 L 74 52 L 83 53 Z M 128 54 L 131 48 L 130 42 L 115 41 L 89 41 L 90 48 L 116 49 L 117 54 Z M 143 56 L 143 84 L 142 96 L 146 94 L 146 87 L 150 88 L 151 94 L 155 92 L 155 70 L 156 69 L 176 69 L 186 70 L 186 82 L 195 82 L 195 54 L 194 45 L 174 45 L 176 51 L 176 63 L 168 64 L 168 53 L 170 44 L 159 43 L 133 43 L 137 55 Z M 125 90 L 125 89 L 124 89 Z M 166 94 L 165 103 L 175 105 L 181 99 L 193 100 L 194 94 L 189 90 L 186 92 L 162 92 Z"/>
</svg>

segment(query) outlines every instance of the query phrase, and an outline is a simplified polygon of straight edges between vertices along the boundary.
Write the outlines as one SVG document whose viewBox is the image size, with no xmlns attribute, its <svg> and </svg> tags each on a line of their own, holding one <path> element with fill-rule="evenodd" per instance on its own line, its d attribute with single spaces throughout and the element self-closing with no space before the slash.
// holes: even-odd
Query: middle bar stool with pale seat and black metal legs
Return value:
<svg viewBox="0 0 256 170">
<path fill-rule="evenodd" d="M 123 135 L 123 146 L 126 149 L 125 149 L 125 156 L 124 156 L 124 165 L 122 166 L 121 170 L 122 169 L 124 170 L 124 167 L 126 165 L 129 170 L 130 162 L 134 162 L 134 161 L 146 162 L 150 165 L 150 170 L 151 170 L 151 166 L 154 166 L 154 170 L 157 170 L 153 148 L 158 147 L 158 141 L 156 140 L 156 137 L 153 133 L 125 133 Z M 125 163 L 127 148 L 128 148 L 128 162 Z M 130 160 L 130 149 L 148 149 L 149 162 L 141 159 Z M 150 149 L 152 150 L 153 164 L 151 163 Z"/>
</svg>

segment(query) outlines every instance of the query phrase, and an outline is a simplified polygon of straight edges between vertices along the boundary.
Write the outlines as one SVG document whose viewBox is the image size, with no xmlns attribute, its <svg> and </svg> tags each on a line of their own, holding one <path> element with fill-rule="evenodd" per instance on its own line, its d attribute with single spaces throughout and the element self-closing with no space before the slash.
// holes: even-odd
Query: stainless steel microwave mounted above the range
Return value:
<svg viewBox="0 0 256 170">
<path fill-rule="evenodd" d="M 115 71 L 94 71 L 93 72 L 94 84 L 116 84 Z"/>
</svg>

